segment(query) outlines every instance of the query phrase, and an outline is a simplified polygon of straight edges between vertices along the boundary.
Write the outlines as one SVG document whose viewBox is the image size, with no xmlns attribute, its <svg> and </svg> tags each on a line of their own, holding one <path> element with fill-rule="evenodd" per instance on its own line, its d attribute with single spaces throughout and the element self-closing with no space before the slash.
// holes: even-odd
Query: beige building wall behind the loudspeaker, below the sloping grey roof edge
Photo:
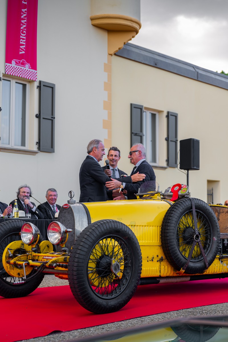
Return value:
<svg viewBox="0 0 228 342">
<path fill-rule="evenodd" d="M 189 171 L 193 197 L 207 201 L 207 180 L 216 184 L 214 202 L 228 197 L 225 153 L 227 144 L 228 91 L 114 55 L 112 57 L 112 143 L 121 150 L 121 169 L 132 170 L 130 104 L 159 111 L 159 167 L 154 167 L 160 189 L 186 183 L 177 168 L 165 168 L 167 111 L 178 113 L 178 141 L 200 140 L 200 170 Z M 179 146 L 179 144 L 178 144 Z M 213 183 L 216 182 L 216 183 Z"/>
</svg>

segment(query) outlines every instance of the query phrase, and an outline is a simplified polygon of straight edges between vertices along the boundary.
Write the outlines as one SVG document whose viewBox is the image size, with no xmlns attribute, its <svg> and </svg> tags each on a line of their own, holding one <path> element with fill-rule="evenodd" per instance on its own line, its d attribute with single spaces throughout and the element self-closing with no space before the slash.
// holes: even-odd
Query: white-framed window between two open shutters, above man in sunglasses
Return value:
<svg viewBox="0 0 228 342">
<path fill-rule="evenodd" d="M 158 125 L 159 113 L 151 110 L 143 112 L 144 146 L 148 163 L 158 164 Z"/>
</svg>

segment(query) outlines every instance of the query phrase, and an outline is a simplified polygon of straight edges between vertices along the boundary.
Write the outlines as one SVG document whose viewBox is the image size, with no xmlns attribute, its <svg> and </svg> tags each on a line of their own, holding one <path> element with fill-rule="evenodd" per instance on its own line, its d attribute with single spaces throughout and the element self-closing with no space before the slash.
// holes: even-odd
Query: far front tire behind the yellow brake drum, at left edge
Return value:
<svg viewBox="0 0 228 342">
<path fill-rule="evenodd" d="M 20 220 L 8 220 L 0 224 L 0 296 L 5 298 L 17 298 L 28 295 L 36 290 L 44 277 L 44 274 L 38 273 L 37 276 L 34 276 L 29 280 L 29 277 L 33 276 L 36 272 L 35 270 L 32 270 L 27 276 L 27 282 L 14 285 L 14 281 L 23 280 L 23 278 L 10 276 L 5 272 L 3 267 L 2 254 L 5 247 L 8 246 L 10 242 L 21 240 L 19 232 L 21 232 L 24 223 L 24 221 Z M 40 237 L 39 242 L 42 240 L 43 238 Z"/>
</svg>

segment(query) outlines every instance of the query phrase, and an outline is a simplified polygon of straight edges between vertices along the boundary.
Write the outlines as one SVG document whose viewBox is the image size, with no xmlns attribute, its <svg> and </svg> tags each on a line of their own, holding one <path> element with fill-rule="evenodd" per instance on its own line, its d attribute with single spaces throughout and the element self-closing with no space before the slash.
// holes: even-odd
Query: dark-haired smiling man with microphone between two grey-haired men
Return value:
<svg viewBox="0 0 228 342">
<path fill-rule="evenodd" d="M 127 175 L 126 172 L 121 171 L 117 167 L 118 161 L 120 160 L 119 148 L 115 146 L 110 147 L 108 150 L 107 159 L 109 161 L 109 169 L 107 169 L 107 165 L 102 167 L 107 176 L 115 179 L 120 178 L 122 175 Z M 115 192 L 114 190 L 108 190 L 106 188 L 106 192 L 109 199 L 113 199 L 113 197 L 116 197 L 117 195 L 119 196 L 119 194 L 117 194 L 117 192 Z"/>
</svg>

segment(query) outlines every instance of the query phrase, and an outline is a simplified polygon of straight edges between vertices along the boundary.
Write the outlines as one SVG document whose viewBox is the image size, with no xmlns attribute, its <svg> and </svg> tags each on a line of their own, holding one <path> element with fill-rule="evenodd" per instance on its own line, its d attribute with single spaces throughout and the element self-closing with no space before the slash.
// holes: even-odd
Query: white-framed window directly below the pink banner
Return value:
<svg viewBox="0 0 228 342">
<path fill-rule="evenodd" d="M 29 82 L 2 80 L 1 146 L 27 148 Z"/>
</svg>

